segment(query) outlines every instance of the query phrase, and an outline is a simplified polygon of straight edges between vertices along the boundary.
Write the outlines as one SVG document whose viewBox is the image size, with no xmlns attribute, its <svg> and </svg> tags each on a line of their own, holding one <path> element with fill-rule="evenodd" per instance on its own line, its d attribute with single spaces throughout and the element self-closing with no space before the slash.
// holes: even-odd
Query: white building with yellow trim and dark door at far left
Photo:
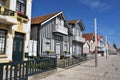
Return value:
<svg viewBox="0 0 120 80">
<path fill-rule="evenodd" d="M 28 52 L 32 0 L 0 0 L 0 62 L 24 60 Z"/>
</svg>

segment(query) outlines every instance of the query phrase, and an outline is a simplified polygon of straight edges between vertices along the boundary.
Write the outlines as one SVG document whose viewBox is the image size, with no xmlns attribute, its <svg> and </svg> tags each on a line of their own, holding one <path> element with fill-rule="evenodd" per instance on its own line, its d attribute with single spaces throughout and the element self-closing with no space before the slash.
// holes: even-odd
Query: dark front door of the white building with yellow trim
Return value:
<svg viewBox="0 0 120 80">
<path fill-rule="evenodd" d="M 24 34 L 15 33 L 13 41 L 13 61 L 22 61 L 23 60 L 23 45 L 24 45 Z"/>
</svg>

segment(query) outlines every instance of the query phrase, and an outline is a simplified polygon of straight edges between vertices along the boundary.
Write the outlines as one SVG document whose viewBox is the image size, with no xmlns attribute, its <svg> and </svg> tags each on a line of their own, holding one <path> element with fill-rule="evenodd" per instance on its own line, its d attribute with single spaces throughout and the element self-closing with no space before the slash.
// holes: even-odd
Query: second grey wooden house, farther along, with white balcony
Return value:
<svg viewBox="0 0 120 80">
<path fill-rule="evenodd" d="M 81 20 L 71 20 L 68 21 L 69 28 L 72 32 L 70 51 L 72 55 L 82 55 L 83 54 L 83 44 L 85 43 L 85 38 L 82 37 L 82 32 L 85 27 Z"/>
</svg>

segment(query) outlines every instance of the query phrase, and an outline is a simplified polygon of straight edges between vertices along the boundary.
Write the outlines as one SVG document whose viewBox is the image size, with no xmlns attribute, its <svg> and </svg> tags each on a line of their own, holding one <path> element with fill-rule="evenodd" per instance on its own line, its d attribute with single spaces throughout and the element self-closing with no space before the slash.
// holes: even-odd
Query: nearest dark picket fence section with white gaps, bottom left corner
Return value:
<svg viewBox="0 0 120 80">
<path fill-rule="evenodd" d="M 10 62 L 0 64 L 0 80 L 27 80 L 28 62 Z"/>
</svg>

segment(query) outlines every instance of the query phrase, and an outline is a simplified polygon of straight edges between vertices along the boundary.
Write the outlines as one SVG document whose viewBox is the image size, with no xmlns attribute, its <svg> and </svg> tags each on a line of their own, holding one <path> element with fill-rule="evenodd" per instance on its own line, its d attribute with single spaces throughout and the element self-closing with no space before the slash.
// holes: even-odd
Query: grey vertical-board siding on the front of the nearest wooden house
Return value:
<svg viewBox="0 0 120 80">
<path fill-rule="evenodd" d="M 40 36 L 40 44 L 39 44 L 40 45 L 40 55 L 42 55 L 42 49 L 41 49 L 43 47 L 42 46 L 42 44 L 43 44 L 42 39 L 43 38 L 53 39 L 53 33 L 52 32 L 53 32 L 53 29 L 55 27 L 55 22 L 56 22 L 55 19 L 51 20 L 50 22 L 42 25 L 41 28 L 40 28 L 40 32 L 39 32 L 40 33 L 40 35 L 39 35 Z M 64 36 L 63 38 L 64 38 L 63 41 L 67 41 L 67 42 L 69 41 L 67 36 Z M 62 44 L 61 44 L 62 48 L 63 48 L 63 41 L 62 41 Z M 54 47 L 54 52 L 55 52 L 55 46 L 54 46 L 55 42 L 56 41 L 54 41 L 54 44 L 52 44 L 53 46 L 51 46 L 51 47 Z M 67 45 L 69 46 L 70 44 L 68 43 Z M 67 47 L 67 48 L 69 48 L 69 47 Z"/>
</svg>

